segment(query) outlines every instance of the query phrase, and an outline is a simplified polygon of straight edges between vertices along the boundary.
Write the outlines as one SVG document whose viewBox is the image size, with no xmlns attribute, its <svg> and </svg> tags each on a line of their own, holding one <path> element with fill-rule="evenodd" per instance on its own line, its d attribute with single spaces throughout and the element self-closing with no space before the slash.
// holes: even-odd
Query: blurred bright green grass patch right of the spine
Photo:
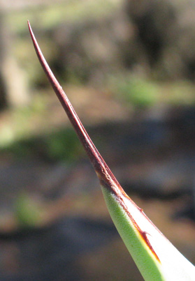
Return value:
<svg viewBox="0 0 195 281">
<path fill-rule="evenodd" d="M 109 87 L 115 98 L 136 108 L 157 104 L 187 106 L 195 103 L 195 85 L 187 80 L 158 82 L 132 75 L 119 75 L 112 77 Z"/>
</svg>

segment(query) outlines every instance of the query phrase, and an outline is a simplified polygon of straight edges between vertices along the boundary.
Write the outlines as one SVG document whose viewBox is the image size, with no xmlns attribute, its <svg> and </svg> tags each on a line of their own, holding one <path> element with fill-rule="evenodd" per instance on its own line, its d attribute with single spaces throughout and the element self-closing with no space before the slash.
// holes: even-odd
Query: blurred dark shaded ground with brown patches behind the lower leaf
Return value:
<svg viewBox="0 0 195 281">
<path fill-rule="evenodd" d="M 193 263 L 194 122 L 195 109 L 185 107 L 88 130 L 124 190 Z M 66 128 L 53 134 L 66 135 Z M 82 153 L 71 164 L 52 160 L 40 151 L 44 142 L 19 141 L 33 149 L 23 160 L 14 149 L 1 153 L 1 280 L 141 280 L 88 160 Z M 28 207 L 39 211 L 32 225 L 25 225 Z"/>
</svg>

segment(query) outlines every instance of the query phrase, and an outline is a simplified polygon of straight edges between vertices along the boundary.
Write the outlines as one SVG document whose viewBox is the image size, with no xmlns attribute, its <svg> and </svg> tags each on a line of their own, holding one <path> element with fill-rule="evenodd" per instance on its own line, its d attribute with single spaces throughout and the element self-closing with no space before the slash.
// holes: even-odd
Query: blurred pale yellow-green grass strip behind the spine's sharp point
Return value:
<svg viewBox="0 0 195 281">
<path fill-rule="evenodd" d="M 30 20 L 38 28 L 51 29 L 61 22 L 78 22 L 85 18 L 99 19 L 105 15 L 112 14 L 119 6 L 120 0 L 96 0 L 96 1 L 65 1 L 52 5 L 31 6 L 20 11 L 10 12 L 8 24 L 13 31 L 20 33 L 27 31 L 26 23 Z"/>
</svg>

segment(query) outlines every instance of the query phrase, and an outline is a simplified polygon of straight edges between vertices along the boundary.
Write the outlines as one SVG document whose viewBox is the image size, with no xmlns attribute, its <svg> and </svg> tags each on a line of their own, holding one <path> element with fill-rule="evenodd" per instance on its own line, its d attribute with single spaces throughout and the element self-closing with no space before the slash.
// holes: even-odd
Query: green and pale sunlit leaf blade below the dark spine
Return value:
<svg viewBox="0 0 195 281">
<path fill-rule="evenodd" d="M 115 227 L 144 280 L 194 281 L 194 266 L 130 198 L 120 195 L 119 200 L 108 189 L 101 189 Z"/>
</svg>

